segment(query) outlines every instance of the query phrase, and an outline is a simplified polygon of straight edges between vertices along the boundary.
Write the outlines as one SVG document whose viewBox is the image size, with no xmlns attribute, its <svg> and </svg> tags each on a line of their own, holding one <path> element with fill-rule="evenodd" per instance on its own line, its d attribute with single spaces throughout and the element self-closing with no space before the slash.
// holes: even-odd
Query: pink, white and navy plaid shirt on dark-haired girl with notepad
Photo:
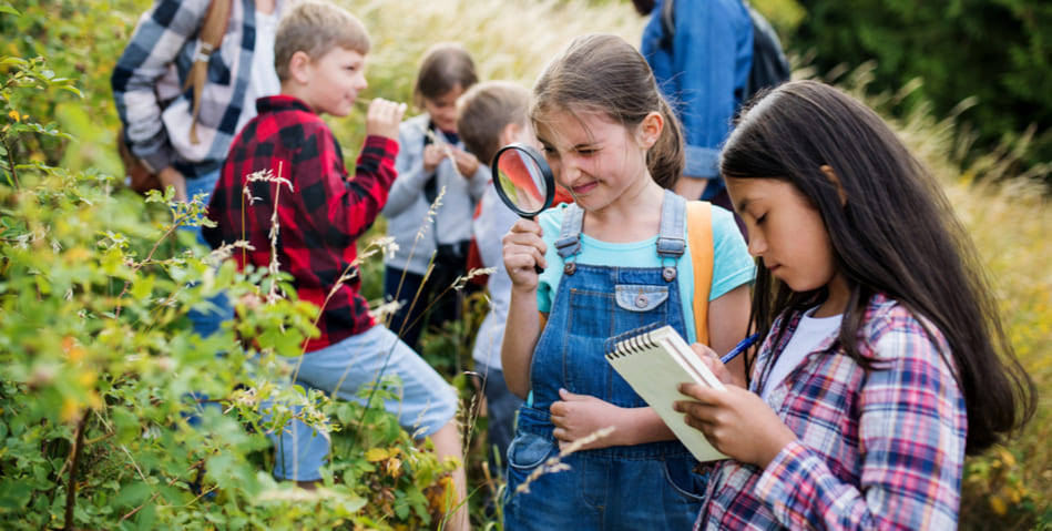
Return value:
<svg viewBox="0 0 1052 531">
<path fill-rule="evenodd" d="M 754 392 L 800 316 L 784 317 L 778 345 L 767 337 Z M 933 331 L 938 344 L 903 306 L 875 296 L 859 349 L 877 367 L 867 374 L 835 336 L 810 353 L 768 398 L 797 441 L 764 470 L 719 462 L 695 530 L 957 529 L 968 419 Z"/>
</svg>

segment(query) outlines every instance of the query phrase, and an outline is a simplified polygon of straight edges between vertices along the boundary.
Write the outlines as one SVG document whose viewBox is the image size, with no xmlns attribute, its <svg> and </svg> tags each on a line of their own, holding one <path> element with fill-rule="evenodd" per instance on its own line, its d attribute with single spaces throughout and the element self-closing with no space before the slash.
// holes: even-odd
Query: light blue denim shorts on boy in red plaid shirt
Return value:
<svg viewBox="0 0 1052 531">
<path fill-rule="evenodd" d="M 299 358 L 282 358 L 295 366 Z M 358 390 L 381 377 L 397 376 L 400 399 L 386 400 L 385 409 L 415 437 L 430 436 L 457 413 L 457 392 L 435 369 L 387 327 L 377 325 L 335 345 L 303 355 L 296 384 L 333 394 L 344 400 L 365 402 Z M 266 408 L 266 406 L 265 406 Z M 315 432 L 299 420 L 273 436 L 274 476 L 279 479 L 314 481 L 329 453 L 327 433 Z"/>
</svg>

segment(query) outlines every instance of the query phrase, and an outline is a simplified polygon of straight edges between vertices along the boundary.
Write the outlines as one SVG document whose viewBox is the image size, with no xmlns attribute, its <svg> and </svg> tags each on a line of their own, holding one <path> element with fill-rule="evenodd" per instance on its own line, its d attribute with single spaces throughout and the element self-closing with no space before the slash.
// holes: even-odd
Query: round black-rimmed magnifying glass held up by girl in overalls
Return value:
<svg viewBox="0 0 1052 531">
<path fill-rule="evenodd" d="M 493 157 L 497 195 L 515 214 L 533 219 L 555 200 L 555 177 L 544 157 L 525 144 L 505 145 Z M 544 269 L 534 266 L 540 274 Z"/>
</svg>

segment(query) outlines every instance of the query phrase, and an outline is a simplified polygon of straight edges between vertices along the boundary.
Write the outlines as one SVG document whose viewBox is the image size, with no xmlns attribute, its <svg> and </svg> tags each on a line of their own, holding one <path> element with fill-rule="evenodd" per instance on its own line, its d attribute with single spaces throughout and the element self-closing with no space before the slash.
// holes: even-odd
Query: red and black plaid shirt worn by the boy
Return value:
<svg viewBox="0 0 1052 531">
<path fill-rule="evenodd" d="M 368 136 L 358 157 L 354 178 L 347 177 L 339 144 L 325 122 L 302 101 L 277 95 L 261 98 L 259 114 L 234 139 L 231 153 L 216 183 L 208 218 L 216 223 L 203 233 L 213 247 L 247 241 L 253 251 L 234 257 L 244 267 L 267 267 L 270 263 L 270 216 L 277 186 L 277 259 L 282 270 L 293 276 L 302 300 L 324 304 L 318 328 L 321 336 L 307 341 L 307 351 L 317 350 L 360 334 L 376 323 L 365 298 L 358 293 L 358 275 L 344 282 L 333 297 L 329 292 L 343 275 L 357 273 L 351 266 L 358 254 L 355 241 L 365 233 L 387 201 L 395 181 L 398 143 Z M 287 178 L 287 185 L 254 181 L 242 192 L 247 176 L 270 170 Z M 279 174 L 280 172 L 280 174 Z M 244 225 L 243 225 L 244 223 Z"/>
</svg>

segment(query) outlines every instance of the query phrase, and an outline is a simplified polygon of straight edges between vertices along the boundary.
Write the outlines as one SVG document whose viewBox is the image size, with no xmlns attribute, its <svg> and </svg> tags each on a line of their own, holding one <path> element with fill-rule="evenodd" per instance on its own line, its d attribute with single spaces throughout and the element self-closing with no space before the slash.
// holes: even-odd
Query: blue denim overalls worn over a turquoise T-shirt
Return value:
<svg viewBox="0 0 1052 531">
<path fill-rule="evenodd" d="M 562 459 L 570 470 L 549 472 L 515 489 L 559 453 L 549 408 L 559 388 L 615 406 L 646 402 L 603 357 L 606 338 L 643 325 L 672 325 L 686 336 L 676 263 L 685 249 L 686 202 L 666 192 L 657 254 L 662 267 L 617 267 L 576 263 L 584 212 L 565 212 L 555 247 L 564 263 L 531 365 L 533 402 L 519 409 L 508 449 L 504 529 L 648 530 L 691 529 L 701 508 L 705 477 L 678 441 L 584 450 Z"/>
</svg>

